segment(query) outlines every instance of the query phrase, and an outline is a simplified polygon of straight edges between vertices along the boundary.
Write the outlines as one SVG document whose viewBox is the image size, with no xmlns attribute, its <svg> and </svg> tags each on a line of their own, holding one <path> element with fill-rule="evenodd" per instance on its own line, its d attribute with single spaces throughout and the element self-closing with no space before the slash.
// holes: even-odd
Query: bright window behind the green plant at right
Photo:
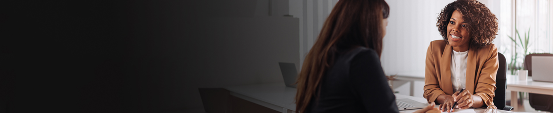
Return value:
<svg viewBox="0 0 553 113">
<path fill-rule="evenodd" d="M 551 39 L 553 4 L 550 2 L 550 0 L 501 1 L 499 39 L 495 41 L 499 41 L 496 43 L 499 44 L 499 53 L 505 55 L 510 70 L 523 68 L 524 57 L 527 54 L 553 53 Z M 514 71 L 510 73 L 514 74 Z"/>
</svg>

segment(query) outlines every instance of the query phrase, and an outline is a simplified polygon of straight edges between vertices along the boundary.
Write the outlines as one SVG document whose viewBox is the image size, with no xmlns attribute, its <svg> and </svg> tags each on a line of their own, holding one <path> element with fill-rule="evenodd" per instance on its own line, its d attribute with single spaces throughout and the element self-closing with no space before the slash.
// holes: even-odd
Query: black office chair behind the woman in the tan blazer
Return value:
<svg viewBox="0 0 553 113">
<path fill-rule="evenodd" d="M 493 104 L 499 110 L 513 110 L 513 106 L 505 105 L 505 89 L 507 89 L 507 60 L 501 53 L 497 53 L 499 60 L 499 69 L 497 69 L 497 75 L 495 75 L 495 96 L 493 97 Z"/>
</svg>

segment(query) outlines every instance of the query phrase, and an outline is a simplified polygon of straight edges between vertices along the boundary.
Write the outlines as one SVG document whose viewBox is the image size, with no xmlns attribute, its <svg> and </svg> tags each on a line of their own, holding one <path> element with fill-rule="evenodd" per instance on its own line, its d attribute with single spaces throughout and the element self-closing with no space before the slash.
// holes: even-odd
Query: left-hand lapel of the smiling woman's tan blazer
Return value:
<svg viewBox="0 0 553 113">
<path fill-rule="evenodd" d="M 451 84 L 451 51 L 452 51 L 451 45 L 447 44 L 446 48 L 444 49 L 444 53 L 442 53 L 441 58 L 441 85 L 442 91 L 444 91 L 447 95 L 453 94 L 453 86 Z"/>
</svg>

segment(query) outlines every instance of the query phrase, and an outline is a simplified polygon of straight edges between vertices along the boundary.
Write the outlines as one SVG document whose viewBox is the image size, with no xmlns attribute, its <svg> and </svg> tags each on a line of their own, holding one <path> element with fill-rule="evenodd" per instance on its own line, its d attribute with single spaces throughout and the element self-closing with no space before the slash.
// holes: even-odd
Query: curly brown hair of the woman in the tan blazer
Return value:
<svg viewBox="0 0 553 113">
<path fill-rule="evenodd" d="M 481 48 L 492 44 L 495 35 L 497 35 L 498 22 L 495 14 L 486 7 L 486 5 L 476 0 L 457 0 L 442 9 L 437 18 L 436 27 L 447 43 L 447 24 L 450 22 L 453 11 L 459 11 L 463 19 L 467 22 L 467 30 L 470 35 L 471 48 Z"/>
</svg>

